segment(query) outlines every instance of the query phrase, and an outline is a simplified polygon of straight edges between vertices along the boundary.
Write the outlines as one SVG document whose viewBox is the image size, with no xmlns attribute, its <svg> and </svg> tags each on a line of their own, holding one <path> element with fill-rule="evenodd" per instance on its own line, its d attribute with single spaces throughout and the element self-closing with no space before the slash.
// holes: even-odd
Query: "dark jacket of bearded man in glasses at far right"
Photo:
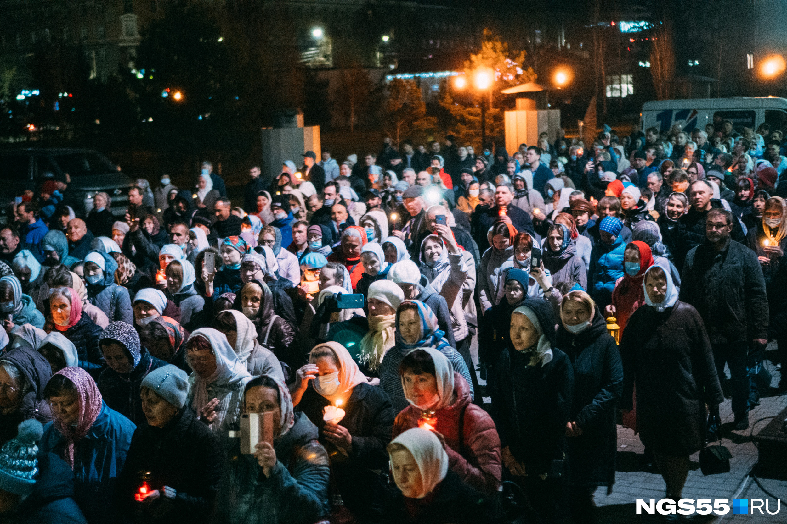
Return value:
<svg viewBox="0 0 787 524">
<path fill-rule="evenodd" d="M 680 299 L 700 312 L 711 344 L 767 338 L 763 270 L 756 253 L 742 244 L 730 240 L 717 253 L 705 243 L 689 251 Z"/>
</svg>

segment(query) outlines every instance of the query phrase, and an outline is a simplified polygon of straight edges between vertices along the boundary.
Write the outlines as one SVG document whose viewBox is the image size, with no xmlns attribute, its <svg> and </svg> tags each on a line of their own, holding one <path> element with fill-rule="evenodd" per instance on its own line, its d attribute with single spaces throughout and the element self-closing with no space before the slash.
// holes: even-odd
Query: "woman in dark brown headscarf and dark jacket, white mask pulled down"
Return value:
<svg viewBox="0 0 787 524">
<path fill-rule="evenodd" d="M 238 292 L 232 309 L 240 311 L 257 329 L 260 346 L 271 350 L 290 369 L 301 367 L 303 354 L 295 343 L 295 328 L 273 309 L 273 294 L 262 280 L 249 280 Z"/>
</svg>

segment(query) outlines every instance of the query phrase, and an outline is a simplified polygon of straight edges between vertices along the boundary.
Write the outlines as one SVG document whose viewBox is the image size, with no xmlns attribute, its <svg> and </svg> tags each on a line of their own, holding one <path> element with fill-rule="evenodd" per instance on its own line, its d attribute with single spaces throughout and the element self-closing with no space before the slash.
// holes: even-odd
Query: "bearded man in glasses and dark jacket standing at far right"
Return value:
<svg viewBox="0 0 787 524">
<path fill-rule="evenodd" d="M 689 251 L 683 266 L 680 299 L 700 313 L 719 377 L 730 366 L 735 429 L 748 427 L 748 351 L 768 343 L 768 300 L 757 255 L 730 239 L 730 211 L 708 212 L 703 244 Z"/>
</svg>

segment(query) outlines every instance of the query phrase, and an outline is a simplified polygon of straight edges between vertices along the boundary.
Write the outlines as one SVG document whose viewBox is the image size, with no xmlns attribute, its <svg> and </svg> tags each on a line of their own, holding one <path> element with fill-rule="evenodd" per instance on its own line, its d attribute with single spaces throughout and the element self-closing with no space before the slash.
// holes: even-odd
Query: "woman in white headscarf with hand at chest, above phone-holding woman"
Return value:
<svg viewBox="0 0 787 524">
<path fill-rule="evenodd" d="M 200 328 L 186 343 L 189 376 L 188 402 L 212 431 L 224 432 L 240 421 L 243 388 L 251 376 L 238 360 L 224 333 Z"/>
</svg>

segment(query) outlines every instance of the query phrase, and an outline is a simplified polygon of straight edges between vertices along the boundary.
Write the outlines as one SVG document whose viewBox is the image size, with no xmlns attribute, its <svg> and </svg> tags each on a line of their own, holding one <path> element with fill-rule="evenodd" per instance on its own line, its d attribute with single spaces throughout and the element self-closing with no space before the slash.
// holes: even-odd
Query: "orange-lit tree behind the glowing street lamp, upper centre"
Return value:
<svg viewBox="0 0 787 524">
<path fill-rule="evenodd" d="M 445 82 L 441 90 L 440 105 L 451 115 L 446 128 L 453 131 L 460 143 L 478 144 L 481 140 L 481 104 L 486 104 L 486 136 L 488 141 L 504 136 L 504 112 L 501 90 L 519 84 L 534 82 L 533 68 L 523 69 L 525 52 L 508 49 L 498 35 L 484 29 L 481 50 L 464 62 L 464 85 L 456 79 Z M 479 71 L 490 71 L 492 85 L 478 90 L 475 77 Z"/>
</svg>

